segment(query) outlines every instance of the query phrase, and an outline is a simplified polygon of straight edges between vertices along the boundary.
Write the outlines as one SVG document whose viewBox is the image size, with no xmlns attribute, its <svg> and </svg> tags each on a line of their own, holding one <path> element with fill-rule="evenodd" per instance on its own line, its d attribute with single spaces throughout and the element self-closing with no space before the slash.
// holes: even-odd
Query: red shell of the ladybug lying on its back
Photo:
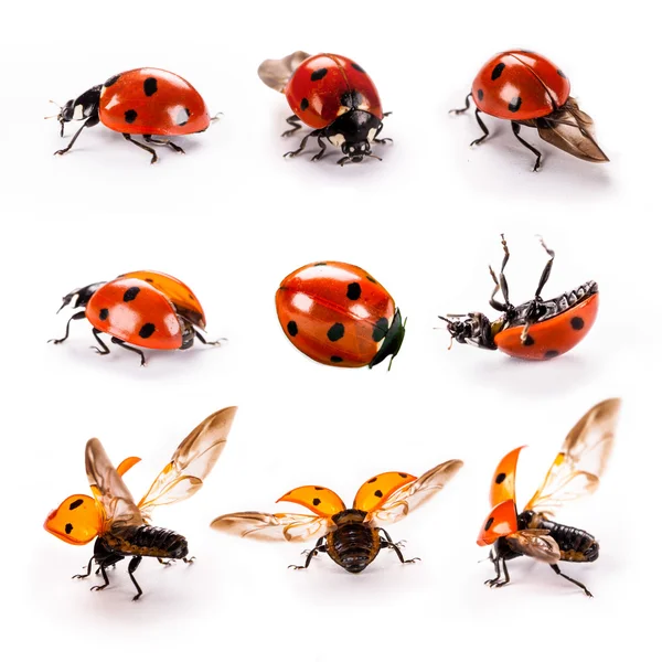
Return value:
<svg viewBox="0 0 662 662">
<path fill-rule="evenodd" d="M 527 344 L 522 344 L 522 325 L 500 331 L 494 342 L 502 352 L 517 359 L 554 359 L 572 350 L 590 331 L 598 314 L 598 301 L 599 293 L 596 292 L 564 312 L 532 324 Z"/>
</svg>

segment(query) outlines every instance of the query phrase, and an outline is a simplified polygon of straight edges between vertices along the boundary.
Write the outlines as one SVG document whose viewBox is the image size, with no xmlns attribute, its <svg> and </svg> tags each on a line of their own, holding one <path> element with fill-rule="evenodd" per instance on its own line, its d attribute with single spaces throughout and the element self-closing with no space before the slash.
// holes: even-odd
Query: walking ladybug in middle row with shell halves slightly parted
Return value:
<svg viewBox="0 0 662 662">
<path fill-rule="evenodd" d="M 85 318 L 93 325 L 97 353 L 110 352 L 99 337 L 108 333 L 114 344 L 139 354 L 140 365 L 146 361 L 138 348 L 188 350 L 196 338 L 203 344 L 221 344 L 205 340 L 200 332 L 205 330 L 206 319 L 197 297 L 181 280 L 159 271 L 131 271 L 110 282 L 75 289 L 62 298 L 60 310 L 65 306 L 84 310 L 70 318 L 64 338 L 50 341 L 55 344 L 68 338 L 72 321 Z"/>
</svg>

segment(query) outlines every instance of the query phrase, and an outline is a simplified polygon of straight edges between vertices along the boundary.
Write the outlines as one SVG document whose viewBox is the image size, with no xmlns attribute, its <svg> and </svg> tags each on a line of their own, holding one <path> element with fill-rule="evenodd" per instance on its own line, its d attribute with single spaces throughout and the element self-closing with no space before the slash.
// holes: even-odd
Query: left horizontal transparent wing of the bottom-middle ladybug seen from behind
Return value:
<svg viewBox="0 0 662 662">
<path fill-rule="evenodd" d="M 307 541 L 322 537 L 335 525 L 328 517 L 292 513 L 244 512 L 216 517 L 212 524 L 215 531 L 252 537 L 258 541 Z"/>
</svg>

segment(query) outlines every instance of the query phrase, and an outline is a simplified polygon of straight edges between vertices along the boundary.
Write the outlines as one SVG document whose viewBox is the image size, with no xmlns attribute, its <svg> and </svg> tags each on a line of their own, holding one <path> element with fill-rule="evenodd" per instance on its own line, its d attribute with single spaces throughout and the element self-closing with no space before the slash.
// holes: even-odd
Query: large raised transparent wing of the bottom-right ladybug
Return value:
<svg viewBox="0 0 662 662">
<path fill-rule="evenodd" d="M 604 401 L 579 419 L 525 510 L 552 515 L 564 503 L 597 490 L 611 455 L 620 404 L 619 398 Z"/>
</svg>

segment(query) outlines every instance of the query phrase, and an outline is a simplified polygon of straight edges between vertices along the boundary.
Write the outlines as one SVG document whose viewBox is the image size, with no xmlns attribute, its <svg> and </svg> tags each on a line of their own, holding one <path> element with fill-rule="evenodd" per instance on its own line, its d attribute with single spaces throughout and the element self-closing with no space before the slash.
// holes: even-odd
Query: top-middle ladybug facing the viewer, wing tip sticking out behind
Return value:
<svg viewBox="0 0 662 662">
<path fill-rule="evenodd" d="M 340 166 L 360 163 L 364 158 L 380 159 L 372 153 L 373 142 L 392 142 L 378 138 L 382 119 L 388 115 L 382 110 L 382 102 L 375 84 L 365 70 L 353 60 L 332 53 L 308 55 L 297 51 L 282 60 L 266 60 L 257 71 L 261 81 L 282 92 L 293 111 L 287 122 L 293 127 L 282 134 L 291 136 L 301 122 L 313 130 L 308 134 L 299 149 L 286 157 L 301 153 L 309 138 L 317 138 L 320 151 L 312 157 L 317 161 L 324 156 L 325 138 L 342 150 Z"/>
</svg>

